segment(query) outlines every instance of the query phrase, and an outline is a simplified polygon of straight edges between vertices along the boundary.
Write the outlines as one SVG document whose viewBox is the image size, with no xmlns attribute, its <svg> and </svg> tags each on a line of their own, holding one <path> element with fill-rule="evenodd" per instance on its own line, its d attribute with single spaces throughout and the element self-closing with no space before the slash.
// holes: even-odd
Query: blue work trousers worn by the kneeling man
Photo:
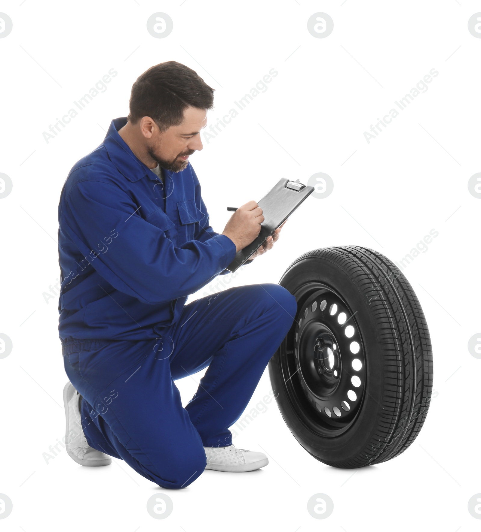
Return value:
<svg viewBox="0 0 481 532">
<path fill-rule="evenodd" d="M 203 446 L 232 444 L 229 427 L 296 310 L 282 286 L 246 285 L 185 305 L 154 340 L 67 340 L 64 366 L 83 397 L 87 443 L 163 488 L 188 486 L 206 467 Z M 204 368 L 184 409 L 174 381 Z"/>
</svg>

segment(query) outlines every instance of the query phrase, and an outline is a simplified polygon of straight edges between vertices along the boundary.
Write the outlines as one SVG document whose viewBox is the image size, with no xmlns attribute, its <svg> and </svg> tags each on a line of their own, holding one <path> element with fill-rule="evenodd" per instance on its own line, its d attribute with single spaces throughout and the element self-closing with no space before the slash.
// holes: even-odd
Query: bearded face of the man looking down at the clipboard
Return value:
<svg viewBox="0 0 481 532">
<path fill-rule="evenodd" d="M 184 110 L 184 121 L 180 126 L 171 126 L 160 133 L 152 119 L 144 117 L 151 123 L 152 135 L 146 139 L 147 152 L 161 168 L 172 172 L 180 172 L 189 164 L 188 157 L 202 149 L 200 131 L 207 126 L 207 110 L 187 107 Z M 147 124 L 145 124 L 147 125 Z"/>
</svg>

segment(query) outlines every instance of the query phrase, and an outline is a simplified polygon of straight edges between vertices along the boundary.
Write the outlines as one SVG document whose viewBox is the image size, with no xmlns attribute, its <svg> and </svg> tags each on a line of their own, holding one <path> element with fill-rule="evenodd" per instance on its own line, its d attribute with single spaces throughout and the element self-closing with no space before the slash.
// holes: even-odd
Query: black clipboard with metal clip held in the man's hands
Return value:
<svg viewBox="0 0 481 532">
<path fill-rule="evenodd" d="M 239 250 L 234 260 L 227 266 L 226 270 L 234 272 L 244 264 L 247 259 L 262 246 L 264 240 L 273 234 L 273 232 L 297 209 L 297 207 L 312 193 L 314 187 L 303 185 L 299 182 L 289 180 L 285 177 L 272 187 L 257 202 L 262 209 L 264 221 L 260 224 L 259 235 L 252 242 Z"/>
</svg>

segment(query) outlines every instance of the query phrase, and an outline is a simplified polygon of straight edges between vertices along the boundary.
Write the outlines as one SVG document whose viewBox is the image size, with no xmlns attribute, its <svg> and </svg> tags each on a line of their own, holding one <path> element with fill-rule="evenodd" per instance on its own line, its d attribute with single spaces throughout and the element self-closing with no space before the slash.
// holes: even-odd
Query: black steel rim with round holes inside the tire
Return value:
<svg viewBox="0 0 481 532">
<path fill-rule="evenodd" d="M 336 437 L 364 401 L 366 354 L 355 313 L 332 287 L 309 282 L 294 293 L 298 311 L 281 356 L 288 395 L 316 434 Z"/>
</svg>

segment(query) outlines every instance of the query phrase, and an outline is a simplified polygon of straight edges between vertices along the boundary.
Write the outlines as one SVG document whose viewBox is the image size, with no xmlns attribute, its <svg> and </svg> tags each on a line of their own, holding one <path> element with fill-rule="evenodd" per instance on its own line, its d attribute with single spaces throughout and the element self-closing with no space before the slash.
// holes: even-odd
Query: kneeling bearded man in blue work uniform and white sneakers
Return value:
<svg viewBox="0 0 481 532">
<path fill-rule="evenodd" d="M 189 156 L 202 149 L 213 93 L 175 61 L 145 71 L 128 117 L 113 120 L 104 142 L 74 165 L 59 204 L 68 453 L 83 465 L 115 456 L 172 489 L 204 469 L 267 464 L 264 454 L 233 446 L 229 427 L 297 309 L 294 296 L 270 283 L 185 305 L 228 273 L 264 220 L 249 201 L 222 234 L 209 225 Z M 174 381 L 204 368 L 184 409 Z"/>
</svg>

